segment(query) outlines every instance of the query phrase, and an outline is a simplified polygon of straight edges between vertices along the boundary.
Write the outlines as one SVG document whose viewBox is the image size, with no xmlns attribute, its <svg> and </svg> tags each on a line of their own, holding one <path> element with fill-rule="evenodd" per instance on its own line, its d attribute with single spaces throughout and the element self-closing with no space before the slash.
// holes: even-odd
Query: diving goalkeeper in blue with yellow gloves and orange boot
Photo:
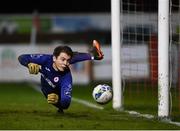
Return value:
<svg viewBox="0 0 180 131">
<path fill-rule="evenodd" d="M 53 54 L 22 54 L 19 62 L 30 74 L 41 73 L 41 91 L 49 104 L 63 113 L 71 103 L 72 75 L 70 64 L 85 60 L 102 60 L 100 44 L 93 40 L 91 53 L 73 52 L 68 46 L 58 46 Z"/>
</svg>

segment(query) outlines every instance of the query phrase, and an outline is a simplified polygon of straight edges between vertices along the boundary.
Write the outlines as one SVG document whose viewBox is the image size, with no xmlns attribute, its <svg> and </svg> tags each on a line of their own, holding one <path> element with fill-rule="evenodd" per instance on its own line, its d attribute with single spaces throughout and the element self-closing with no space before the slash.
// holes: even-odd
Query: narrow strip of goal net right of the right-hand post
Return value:
<svg viewBox="0 0 180 131">
<path fill-rule="evenodd" d="M 171 118 L 180 121 L 180 3 L 170 1 L 170 112 Z"/>
</svg>

